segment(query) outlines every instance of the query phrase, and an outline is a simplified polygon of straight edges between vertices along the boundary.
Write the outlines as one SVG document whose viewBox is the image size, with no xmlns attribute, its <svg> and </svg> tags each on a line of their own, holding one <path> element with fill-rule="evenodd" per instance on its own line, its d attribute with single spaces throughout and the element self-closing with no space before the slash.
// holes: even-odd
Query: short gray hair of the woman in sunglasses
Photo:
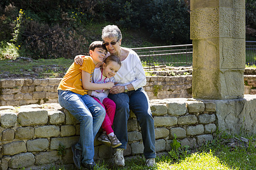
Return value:
<svg viewBox="0 0 256 170">
<path fill-rule="evenodd" d="M 117 27 L 117 25 L 106 25 L 102 29 L 102 40 L 104 41 L 105 38 L 117 38 L 117 40 L 122 39 L 122 33 L 120 29 Z"/>
</svg>

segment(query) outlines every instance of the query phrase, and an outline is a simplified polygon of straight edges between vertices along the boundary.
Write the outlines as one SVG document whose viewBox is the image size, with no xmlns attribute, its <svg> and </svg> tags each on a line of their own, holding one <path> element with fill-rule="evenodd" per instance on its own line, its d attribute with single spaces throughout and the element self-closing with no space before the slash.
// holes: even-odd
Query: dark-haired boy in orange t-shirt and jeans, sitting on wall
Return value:
<svg viewBox="0 0 256 170">
<path fill-rule="evenodd" d="M 82 66 L 73 63 L 57 88 L 59 104 L 80 122 L 80 139 L 72 146 L 73 160 L 77 168 L 93 169 L 95 163 L 94 138 L 105 118 L 105 109 L 91 96 L 88 90 L 110 89 L 113 82 L 92 83 L 92 74 L 98 63 L 106 58 L 106 47 L 102 41 L 89 46 L 89 55 L 84 57 Z M 82 156 L 82 158 L 81 158 Z"/>
</svg>

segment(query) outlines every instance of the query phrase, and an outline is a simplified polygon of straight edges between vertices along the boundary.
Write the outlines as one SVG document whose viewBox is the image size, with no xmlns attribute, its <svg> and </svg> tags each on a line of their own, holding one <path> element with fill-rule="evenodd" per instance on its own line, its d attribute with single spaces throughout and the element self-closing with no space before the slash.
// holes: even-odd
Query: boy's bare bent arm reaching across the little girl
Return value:
<svg viewBox="0 0 256 170">
<path fill-rule="evenodd" d="M 102 84 L 90 82 L 90 74 L 82 70 L 82 88 L 84 88 L 85 90 L 100 90 L 102 88 L 110 89 L 113 86 L 114 86 L 113 82 L 102 83 Z"/>
</svg>

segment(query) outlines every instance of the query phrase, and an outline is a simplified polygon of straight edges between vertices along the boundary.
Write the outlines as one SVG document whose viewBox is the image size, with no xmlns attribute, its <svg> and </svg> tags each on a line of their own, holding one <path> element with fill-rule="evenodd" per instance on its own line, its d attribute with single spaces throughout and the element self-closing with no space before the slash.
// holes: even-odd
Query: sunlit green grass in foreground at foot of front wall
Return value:
<svg viewBox="0 0 256 170">
<path fill-rule="evenodd" d="M 101 170 L 141 170 L 141 169 L 172 169 L 172 170 L 255 170 L 256 169 L 256 135 L 246 136 L 249 139 L 247 147 L 236 145 L 228 146 L 227 141 L 233 138 L 241 138 L 239 135 L 228 135 L 217 132 L 213 141 L 191 150 L 179 145 L 174 139 L 173 150 L 167 155 L 156 157 L 156 166 L 148 168 L 144 165 L 144 158 L 137 156 L 126 160 L 125 167 L 111 167 L 105 163 L 100 164 Z M 176 140 L 176 141 L 175 141 Z M 176 142 L 176 143 L 175 143 Z M 174 144 L 175 143 L 175 144 Z M 61 170 L 65 170 L 62 168 Z"/>
</svg>

